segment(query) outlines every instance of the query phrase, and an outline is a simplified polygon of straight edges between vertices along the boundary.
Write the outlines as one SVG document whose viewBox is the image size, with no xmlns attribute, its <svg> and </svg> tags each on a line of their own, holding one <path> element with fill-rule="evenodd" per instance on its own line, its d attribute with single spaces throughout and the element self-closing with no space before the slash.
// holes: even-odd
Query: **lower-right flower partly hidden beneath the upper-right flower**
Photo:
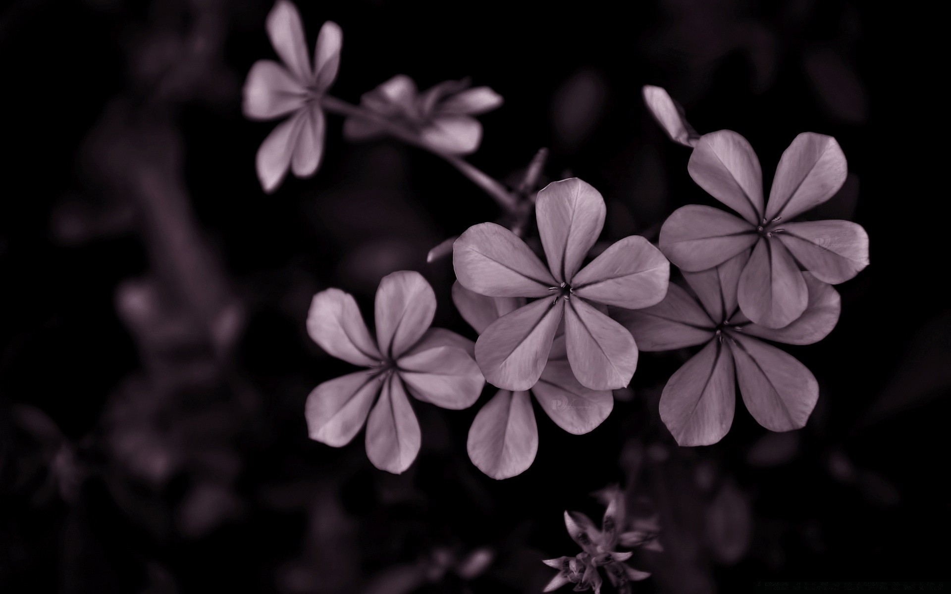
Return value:
<svg viewBox="0 0 951 594">
<path fill-rule="evenodd" d="M 661 394 L 661 419 L 681 446 L 707 446 L 727 434 L 737 382 L 747 410 L 770 431 L 805 426 L 819 398 L 805 365 L 759 338 L 786 344 L 822 340 L 839 320 L 839 294 L 812 274 L 797 273 L 808 292 L 803 316 L 781 329 L 753 323 L 737 305 L 748 258 L 745 251 L 715 268 L 684 273 L 696 298 L 671 283 L 657 305 L 615 313 L 645 351 L 706 345 L 670 376 Z"/>
</svg>

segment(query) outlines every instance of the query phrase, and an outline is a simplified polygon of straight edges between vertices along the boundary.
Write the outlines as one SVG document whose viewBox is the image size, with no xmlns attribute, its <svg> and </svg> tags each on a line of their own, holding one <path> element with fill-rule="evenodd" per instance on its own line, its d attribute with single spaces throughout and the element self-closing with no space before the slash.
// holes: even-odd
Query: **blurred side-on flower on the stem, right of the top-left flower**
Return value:
<svg viewBox="0 0 951 594">
<path fill-rule="evenodd" d="M 482 125 L 472 117 L 502 105 L 502 97 L 488 86 L 468 88 L 469 81 L 446 81 L 418 92 L 416 83 L 398 74 L 360 98 L 360 105 L 417 134 L 423 144 L 438 152 L 467 155 L 482 140 Z M 385 134 L 370 120 L 347 118 L 343 135 L 353 141 Z"/>
</svg>

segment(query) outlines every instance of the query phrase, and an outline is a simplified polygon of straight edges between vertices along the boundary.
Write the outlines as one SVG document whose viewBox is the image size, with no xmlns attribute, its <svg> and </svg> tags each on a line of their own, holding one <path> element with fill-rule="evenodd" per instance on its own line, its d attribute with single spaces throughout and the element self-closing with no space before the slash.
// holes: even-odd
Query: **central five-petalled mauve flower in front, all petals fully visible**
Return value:
<svg viewBox="0 0 951 594">
<path fill-rule="evenodd" d="M 637 366 L 631 333 L 592 305 L 630 309 L 664 298 L 670 263 L 642 237 L 617 241 L 580 270 L 601 228 L 605 203 L 577 178 L 538 192 L 538 233 L 548 268 L 524 241 L 493 222 L 470 227 L 453 245 L 462 286 L 488 297 L 544 297 L 499 317 L 478 337 L 476 361 L 490 383 L 532 388 L 548 361 L 562 316 L 568 361 L 581 385 L 623 388 Z"/>
</svg>

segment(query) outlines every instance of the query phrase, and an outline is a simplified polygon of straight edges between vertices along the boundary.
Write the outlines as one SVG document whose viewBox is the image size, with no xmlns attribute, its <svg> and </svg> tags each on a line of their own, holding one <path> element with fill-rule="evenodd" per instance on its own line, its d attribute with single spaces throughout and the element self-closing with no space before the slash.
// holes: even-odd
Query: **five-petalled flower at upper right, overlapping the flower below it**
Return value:
<svg viewBox="0 0 951 594">
<path fill-rule="evenodd" d="M 808 291 L 800 267 L 837 284 L 868 265 L 868 236 L 860 225 L 847 220 L 790 222 L 827 201 L 845 181 L 845 156 L 831 136 L 805 132 L 789 144 L 766 205 L 760 163 L 736 132 L 700 137 L 688 171 L 742 218 L 711 206 L 684 206 L 664 222 L 660 249 L 688 272 L 751 250 L 737 295 L 740 309 L 757 324 L 782 328 L 803 315 Z"/>
</svg>

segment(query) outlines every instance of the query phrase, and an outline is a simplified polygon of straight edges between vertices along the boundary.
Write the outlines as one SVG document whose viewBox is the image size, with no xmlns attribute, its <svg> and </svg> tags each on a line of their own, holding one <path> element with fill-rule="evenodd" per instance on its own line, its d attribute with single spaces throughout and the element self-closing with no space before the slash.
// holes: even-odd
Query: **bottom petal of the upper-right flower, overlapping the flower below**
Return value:
<svg viewBox="0 0 951 594">
<path fill-rule="evenodd" d="M 809 300 L 796 260 L 775 238 L 753 248 L 736 297 L 743 313 L 767 328 L 782 328 L 802 316 Z"/>
</svg>

